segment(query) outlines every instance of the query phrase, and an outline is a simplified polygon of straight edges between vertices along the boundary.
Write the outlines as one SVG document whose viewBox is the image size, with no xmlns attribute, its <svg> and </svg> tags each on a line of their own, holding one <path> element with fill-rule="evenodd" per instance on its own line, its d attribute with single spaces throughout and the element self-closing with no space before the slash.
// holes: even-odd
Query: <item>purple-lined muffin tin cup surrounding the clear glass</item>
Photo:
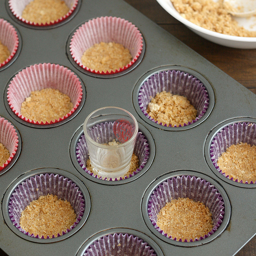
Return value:
<svg viewBox="0 0 256 256">
<path fill-rule="evenodd" d="M 89 158 L 89 153 L 86 139 L 83 134 L 83 127 L 80 127 L 71 142 L 70 154 L 73 164 L 84 177 L 101 184 L 117 185 L 137 179 L 140 175 L 146 172 L 155 157 L 155 144 L 151 134 L 139 122 L 138 124 L 139 132 L 137 134 L 134 146 L 134 153 L 139 158 L 140 166 L 133 174 L 125 176 L 124 179 L 120 177 L 120 179 L 115 178 L 113 180 L 112 178 L 102 179 L 102 177 L 98 177 L 97 175 L 91 173 L 90 170 L 86 168 L 86 162 Z M 108 123 L 105 123 L 104 125 L 108 126 Z"/>
</svg>

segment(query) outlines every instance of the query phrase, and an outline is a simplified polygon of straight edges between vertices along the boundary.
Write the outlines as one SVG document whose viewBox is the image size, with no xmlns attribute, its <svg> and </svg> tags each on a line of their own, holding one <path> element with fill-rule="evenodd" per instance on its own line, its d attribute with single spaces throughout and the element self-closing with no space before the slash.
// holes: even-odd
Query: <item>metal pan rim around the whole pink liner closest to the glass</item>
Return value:
<svg viewBox="0 0 256 256">
<path fill-rule="evenodd" d="M 29 127 L 33 127 L 33 128 L 38 128 L 38 129 L 48 129 L 48 128 L 53 128 L 53 127 L 57 127 L 59 125 L 62 125 L 62 124 L 65 124 L 67 123 L 68 121 L 72 120 L 79 112 L 80 110 L 82 109 L 83 105 L 84 105 L 84 102 L 86 101 L 86 87 L 84 86 L 84 83 L 82 81 L 82 79 L 77 75 L 77 73 L 75 73 L 73 70 L 71 70 L 69 67 L 66 67 L 66 66 L 62 66 L 62 65 L 59 65 L 59 66 L 62 66 L 64 68 L 67 68 L 68 70 L 70 70 L 71 72 L 74 73 L 74 75 L 79 79 L 79 82 L 81 84 L 81 89 L 82 89 L 82 97 L 81 97 L 81 101 L 79 102 L 76 110 L 70 115 L 68 116 L 67 118 L 64 118 L 63 120 L 61 121 L 58 121 L 58 122 L 55 122 L 55 123 L 50 123 L 50 124 L 37 124 L 37 123 L 31 123 L 31 122 L 28 122 L 28 121 L 25 121 L 23 120 L 22 118 L 18 117 L 14 112 L 13 110 L 11 109 L 10 105 L 9 105 L 9 101 L 8 101 L 8 98 L 7 98 L 7 95 L 8 95 L 8 88 L 10 86 L 10 83 L 12 81 L 12 79 L 21 71 L 25 70 L 26 68 L 29 68 L 31 66 L 35 66 L 35 65 L 40 65 L 42 63 L 34 63 L 32 65 L 29 65 L 27 67 L 24 67 L 18 71 L 16 71 L 16 73 L 9 79 L 9 81 L 7 82 L 7 85 L 6 85 L 6 88 L 4 90 L 4 103 L 5 103 L 5 108 L 6 110 L 8 111 L 8 113 L 11 115 L 12 118 L 14 118 L 16 121 L 18 121 L 19 123 L 22 123 L 26 126 L 29 126 Z M 58 65 L 58 64 L 55 64 L 55 63 L 50 63 L 51 65 L 54 64 L 54 65 Z"/>
</svg>

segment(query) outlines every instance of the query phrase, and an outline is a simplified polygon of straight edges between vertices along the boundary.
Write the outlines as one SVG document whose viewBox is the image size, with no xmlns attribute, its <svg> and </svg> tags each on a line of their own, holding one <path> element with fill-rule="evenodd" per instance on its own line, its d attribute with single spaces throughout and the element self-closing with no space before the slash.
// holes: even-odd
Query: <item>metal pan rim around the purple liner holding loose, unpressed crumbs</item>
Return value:
<svg viewBox="0 0 256 256">
<path fill-rule="evenodd" d="M 192 75 L 193 77 L 197 78 L 197 80 L 199 80 L 202 85 L 204 86 L 205 90 L 207 91 L 207 95 L 208 95 L 208 106 L 207 109 L 205 111 L 205 113 L 203 114 L 203 116 L 199 119 L 196 120 L 193 123 L 188 123 L 184 126 L 179 126 L 179 127 L 169 127 L 166 125 L 162 125 L 159 124 L 157 122 L 155 122 L 155 120 L 151 120 L 150 118 L 148 118 L 141 110 L 140 108 L 140 104 L 139 104 L 139 93 L 140 93 L 140 89 L 143 86 L 144 82 L 146 82 L 146 80 L 148 78 L 150 78 L 151 76 L 158 74 L 160 72 L 164 72 L 164 71 L 180 71 L 180 72 L 184 72 L 185 74 L 189 74 Z M 214 104 L 215 104 L 215 95 L 214 95 L 214 90 L 212 89 L 209 81 L 200 73 L 198 73 L 195 70 L 192 70 L 190 68 L 187 67 L 183 67 L 183 66 L 177 66 L 177 65 L 168 65 L 168 66 L 161 66 L 155 69 L 152 69 L 150 71 L 148 71 L 147 73 L 145 73 L 143 76 L 141 76 L 139 78 L 139 80 L 137 81 L 134 89 L 133 89 L 133 104 L 134 104 L 134 108 L 136 110 L 136 112 L 138 113 L 138 115 L 142 118 L 143 121 L 145 121 L 146 123 L 150 124 L 153 127 L 156 127 L 160 130 L 164 130 L 164 131 L 184 131 L 184 130 L 188 130 L 191 129 L 199 124 L 201 124 L 211 113 L 212 109 L 214 108 Z"/>
</svg>

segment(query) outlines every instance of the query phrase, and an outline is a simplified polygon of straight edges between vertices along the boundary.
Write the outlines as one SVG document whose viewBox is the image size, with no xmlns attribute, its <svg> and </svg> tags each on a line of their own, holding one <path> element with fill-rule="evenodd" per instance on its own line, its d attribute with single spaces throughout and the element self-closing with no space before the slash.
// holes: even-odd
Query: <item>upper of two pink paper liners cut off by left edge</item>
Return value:
<svg viewBox="0 0 256 256">
<path fill-rule="evenodd" d="M 15 28 L 3 18 L 0 18 L 0 41 L 10 51 L 10 56 L 4 62 L 0 63 L 1 68 L 13 58 L 19 44 Z"/>
</svg>

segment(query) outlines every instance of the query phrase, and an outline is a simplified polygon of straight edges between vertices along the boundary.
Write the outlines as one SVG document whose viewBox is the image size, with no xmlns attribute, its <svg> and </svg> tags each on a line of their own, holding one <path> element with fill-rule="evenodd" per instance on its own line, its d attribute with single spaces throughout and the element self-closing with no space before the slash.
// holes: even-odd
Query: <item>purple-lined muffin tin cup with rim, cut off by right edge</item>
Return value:
<svg viewBox="0 0 256 256">
<path fill-rule="evenodd" d="M 218 166 L 218 158 L 226 149 L 233 145 L 244 142 L 256 145 L 256 119 L 255 118 L 235 118 L 227 120 L 216 126 L 208 136 L 205 143 L 205 158 L 211 168 L 219 178 L 232 185 L 239 187 L 256 187 L 256 182 L 233 179 L 222 172 Z"/>
</svg>

